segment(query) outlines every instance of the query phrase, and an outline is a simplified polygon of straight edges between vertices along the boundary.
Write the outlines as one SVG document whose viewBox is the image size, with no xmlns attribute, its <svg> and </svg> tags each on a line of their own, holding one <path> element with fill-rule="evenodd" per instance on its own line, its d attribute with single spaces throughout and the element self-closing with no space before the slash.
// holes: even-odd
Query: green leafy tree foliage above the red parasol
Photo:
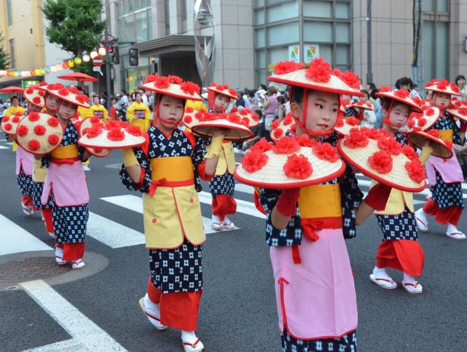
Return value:
<svg viewBox="0 0 467 352">
<path fill-rule="evenodd" d="M 46 36 L 51 43 L 79 57 L 99 47 L 105 27 L 100 22 L 101 0 L 43 0 L 42 12 L 49 21 Z M 81 72 L 91 67 L 75 66 Z"/>
</svg>

